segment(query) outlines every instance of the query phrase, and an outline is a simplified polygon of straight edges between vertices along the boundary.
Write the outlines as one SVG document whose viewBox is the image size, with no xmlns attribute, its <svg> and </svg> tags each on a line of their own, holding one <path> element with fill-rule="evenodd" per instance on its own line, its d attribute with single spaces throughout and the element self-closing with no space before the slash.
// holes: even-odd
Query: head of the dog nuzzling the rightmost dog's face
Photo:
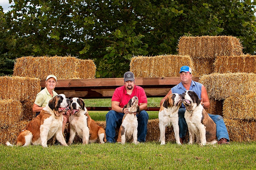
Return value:
<svg viewBox="0 0 256 170">
<path fill-rule="evenodd" d="M 178 107 L 180 108 L 182 100 L 181 95 L 178 93 L 170 94 L 163 103 L 163 107 L 168 109 L 168 107 Z"/>
</svg>

